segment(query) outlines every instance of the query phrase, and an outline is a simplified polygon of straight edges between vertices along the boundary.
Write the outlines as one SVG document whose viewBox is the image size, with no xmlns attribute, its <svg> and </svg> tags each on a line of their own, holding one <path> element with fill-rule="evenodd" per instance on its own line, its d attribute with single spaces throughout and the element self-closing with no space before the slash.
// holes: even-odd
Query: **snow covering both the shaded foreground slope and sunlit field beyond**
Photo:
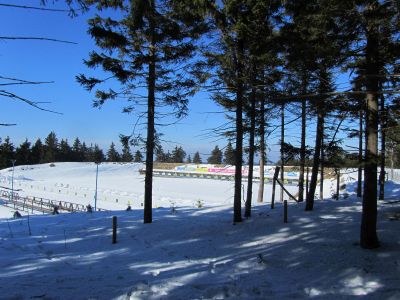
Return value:
<svg viewBox="0 0 400 300">
<path fill-rule="evenodd" d="M 155 178 L 158 208 L 153 223 L 143 224 L 139 167 L 100 165 L 98 206 L 113 211 L 12 219 L 0 206 L 0 299 L 400 299 L 400 221 L 389 219 L 400 203 L 379 202 L 382 246 L 361 249 L 361 202 L 350 175 L 346 199 L 317 200 L 312 212 L 290 201 L 287 224 L 279 201 L 273 210 L 268 201 L 255 203 L 252 218 L 236 225 L 232 182 Z M 14 186 L 24 193 L 93 201 L 93 164 L 32 168 L 15 170 L 24 177 Z M 0 171 L 1 185 L 9 174 Z M 399 199 L 400 185 L 387 187 Z M 125 211 L 130 199 L 134 209 Z"/>
</svg>

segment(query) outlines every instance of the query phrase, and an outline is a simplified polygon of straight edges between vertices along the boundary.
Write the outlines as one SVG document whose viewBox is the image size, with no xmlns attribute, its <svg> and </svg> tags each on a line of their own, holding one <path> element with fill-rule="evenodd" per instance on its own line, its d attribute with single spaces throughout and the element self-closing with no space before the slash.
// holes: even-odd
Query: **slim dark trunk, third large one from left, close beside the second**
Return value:
<svg viewBox="0 0 400 300">
<path fill-rule="evenodd" d="M 255 76 L 253 77 L 253 88 L 250 100 L 250 137 L 249 137 L 249 174 L 247 176 L 247 197 L 244 216 L 251 217 L 251 200 L 253 196 L 253 168 L 254 168 L 254 135 L 256 131 L 256 90 Z"/>
</svg>

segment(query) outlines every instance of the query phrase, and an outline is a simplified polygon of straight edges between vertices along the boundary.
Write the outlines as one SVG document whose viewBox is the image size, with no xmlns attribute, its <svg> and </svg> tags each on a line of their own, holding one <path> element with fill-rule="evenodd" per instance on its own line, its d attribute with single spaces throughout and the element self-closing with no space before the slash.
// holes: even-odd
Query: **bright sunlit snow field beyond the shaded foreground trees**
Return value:
<svg viewBox="0 0 400 300">
<path fill-rule="evenodd" d="M 144 198 L 144 175 L 139 174 L 143 164 L 103 163 L 99 165 L 97 206 L 104 209 L 142 207 Z M 11 188 L 12 169 L 0 171 L 0 185 Z M 96 165 L 94 163 L 56 163 L 35 166 L 18 166 L 14 170 L 14 188 L 25 196 L 43 197 L 94 204 Z M 258 184 L 254 185 L 257 196 Z M 245 188 L 245 187 L 244 187 Z M 295 186 L 288 190 L 296 193 Z M 278 195 L 279 189 L 277 189 Z M 271 195 L 266 185 L 266 195 Z M 327 195 L 329 196 L 329 190 Z M 171 207 L 231 204 L 233 181 L 194 178 L 154 177 L 153 206 Z"/>
</svg>

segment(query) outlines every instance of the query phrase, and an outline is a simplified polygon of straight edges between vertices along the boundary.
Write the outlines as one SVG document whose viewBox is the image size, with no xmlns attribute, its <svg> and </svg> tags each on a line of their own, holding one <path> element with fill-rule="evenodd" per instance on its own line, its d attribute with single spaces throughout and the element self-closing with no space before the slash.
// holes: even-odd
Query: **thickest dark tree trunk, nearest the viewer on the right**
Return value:
<svg viewBox="0 0 400 300">
<path fill-rule="evenodd" d="M 371 15 L 378 6 L 369 4 Z M 379 74 L 379 32 L 373 20 L 367 25 L 366 45 L 366 146 L 364 169 L 364 195 L 361 216 L 360 245 L 363 248 L 379 247 L 376 233 L 377 222 L 377 169 L 378 169 L 378 77 Z"/>
</svg>

